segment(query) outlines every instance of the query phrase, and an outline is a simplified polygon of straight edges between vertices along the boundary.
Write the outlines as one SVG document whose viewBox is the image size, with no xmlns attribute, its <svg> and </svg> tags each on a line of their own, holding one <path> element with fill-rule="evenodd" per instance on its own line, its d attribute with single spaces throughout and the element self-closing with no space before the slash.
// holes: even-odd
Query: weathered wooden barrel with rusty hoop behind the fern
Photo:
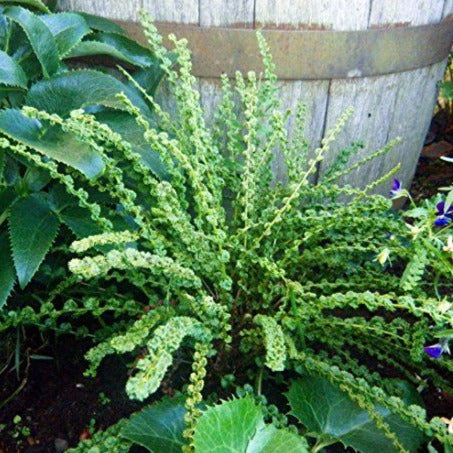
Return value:
<svg viewBox="0 0 453 453">
<path fill-rule="evenodd" d="M 163 32 L 189 39 L 202 102 L 209 116 L 221 72 L 259 69 L 254 28 L 263 28 L 280 78 L 285 108 L 307 103 L 312 148 L 344 110 L 355 111 L 320 174 L 338 150 L 361 140 L 360 159 L 400 136 L 403 142 L 347 177 L 364 187 L 401 163 L 410 185 L 430 124 L 453 36 L 452 0 L 61 0 L 122 22 L 138 36 L 145 8 Z M 291 125 L 290 125 L 291 128 Z M 284 168 L 275 171 L 282 176 Z M 379 191 L 388 193 L 388 188 Z"/>
</svg>

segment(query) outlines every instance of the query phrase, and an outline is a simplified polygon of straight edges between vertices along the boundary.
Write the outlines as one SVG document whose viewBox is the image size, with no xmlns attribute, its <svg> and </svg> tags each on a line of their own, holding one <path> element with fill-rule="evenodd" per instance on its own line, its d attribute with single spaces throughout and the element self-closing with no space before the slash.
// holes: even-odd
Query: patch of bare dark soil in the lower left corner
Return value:
<svg viewBox="0 0 453 453">
<path fill-rule="evenodd" d="M 83 377 L 86 350 L 86 342 L 60 337 L 52 350 L 39 351 L 53 360 L 32 360 L 19 380 L 12 368 L 0 376 L 0 404 L 26 380 L 0 409 L 0 453 L 63 451 L 89 437 L 92 429 L 105 429 L 138 409 L 125 395 L 127 370 L 121 362 L 107 361 L 96 379 Z M 14 424 L 17 415 L 22 421 Z M 30 433 L 20 433 L 22 427 Z"/>
</svg>

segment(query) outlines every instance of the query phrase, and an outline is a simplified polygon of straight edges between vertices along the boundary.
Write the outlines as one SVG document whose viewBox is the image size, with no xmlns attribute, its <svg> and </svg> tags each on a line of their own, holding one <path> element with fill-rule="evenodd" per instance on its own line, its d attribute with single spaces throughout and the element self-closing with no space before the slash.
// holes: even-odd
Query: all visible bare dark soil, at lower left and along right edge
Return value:
<svg viewBox="0 0 453 453">
<path fill-rule="evenodd" d="M 439 187 L 452 183 L 453 164 L 442 161 L 441 156 L 453 157 L 453 122 L 438 114 L 411 187 L 414 198 L 430 197 Z M 52 360 L 31 360 L 28 367 L 24 360 L 19 379 L 11 364 L 0 374 L 0 405 L 18 391 L 8 404 L 0 406 L 0 453 L 60 452 L 89 437 L 93 429 L 105 429 L 139 407 L 125 395 L 127 370 L 119 359 L 106 361 L 100 375 L 89 379 L 83 377 L 87 342 L 65 336 L 51 343 L 52 348 L 39 354 Z M 422 396 L 429 416 L 452 416 L 452 395 L 431 388 Z M 17 415 L 22 421 L 14 424 Z M 29 433 L 20 433 L 23 427 Z"/>
</svg>

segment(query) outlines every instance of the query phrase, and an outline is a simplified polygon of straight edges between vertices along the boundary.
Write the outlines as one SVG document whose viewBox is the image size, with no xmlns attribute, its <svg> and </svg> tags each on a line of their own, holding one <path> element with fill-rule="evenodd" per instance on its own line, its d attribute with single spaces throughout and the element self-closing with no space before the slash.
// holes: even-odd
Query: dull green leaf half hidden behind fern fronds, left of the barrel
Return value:
<svg viewBox="0 0 453 453">
<path fill-rule="evenodd" d="M 107 124 L 113 131 L 118 132 L 124 140 L 129 142 L 132 149 L 140 154 L 143 163 L 161 179 L 167 179 L 168 174 L 162 163 L 159 153 L 154 151 L 143 137 L 141 128 L 135 118 L 126 112 L 105 111 L 96 114 L 101 123 Z"/>
</svg>

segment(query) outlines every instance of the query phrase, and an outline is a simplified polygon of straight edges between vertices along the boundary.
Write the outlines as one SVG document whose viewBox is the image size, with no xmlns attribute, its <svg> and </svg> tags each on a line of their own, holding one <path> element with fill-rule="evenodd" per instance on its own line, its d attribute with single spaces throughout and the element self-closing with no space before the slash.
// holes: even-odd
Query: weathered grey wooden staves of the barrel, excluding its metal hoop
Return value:
<svg viewBox="0 0 453 453">
<path fill-rule="evenodd" d="M 136 10 L 146 8 L 158 21 L 201 26 L 364 30 L 438 22 L 453 13 L 453 0 L 62 0 L 61 7 L 122 20 L 136 20 Z M 378 77 L 285 81 L 279 84 L 281 99 L 284 108 L 294 109 L 299 101 L 308 104 L 311 115 L 306 135 L 311 149 L 319 145 L 326 130 L 347 107 L 354 107 L 347 129 L 322 162 L 321 175 L 338 150 L 353 141 L 362 140 L 366 144 L 353 158 L 355 162 L 401 136 L 403 142 L 391 153 L 348 175 L 347 182 L 364 187 L 401 162 L 398 177 L 407 187 L 429 126 L 436 83 L 444 67 L 445 62 L 441 62 Z M 199 87 L 210 123 L 220 99 L 220 84 L 216 79 L 203 79 Z M 274 170 L 277 177 L 283 177 L 285 169 L 280 156 Z M 378 191 L 385 194 L 388 189 L 381 187 Z"/>
</svg>

